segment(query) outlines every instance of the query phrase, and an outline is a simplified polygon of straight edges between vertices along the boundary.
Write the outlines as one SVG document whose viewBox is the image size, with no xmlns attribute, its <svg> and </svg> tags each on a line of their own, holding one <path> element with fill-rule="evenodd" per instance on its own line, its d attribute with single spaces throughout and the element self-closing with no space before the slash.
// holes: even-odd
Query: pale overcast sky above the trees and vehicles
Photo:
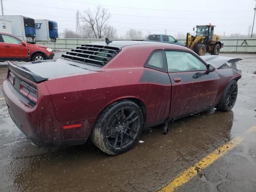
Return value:
<svg viewBox="0 0 256 192">
<path fill-rule="evenodd" d="M 96 4 L 108 8 L 109 24 L 118 36 L 130 28 L 143 34 L 192 32 L 193 26 L 211 23 L 216 34 L 248 34 L 252 26 L 255 0 L 3 0 L 5 15 L 23 15 L 34 19 L 58 22 L 64 28 L 76 30 L 76 11 L 81 13 Z M 254 32 L 256 27 L 254 26 Z"/>
</svg>

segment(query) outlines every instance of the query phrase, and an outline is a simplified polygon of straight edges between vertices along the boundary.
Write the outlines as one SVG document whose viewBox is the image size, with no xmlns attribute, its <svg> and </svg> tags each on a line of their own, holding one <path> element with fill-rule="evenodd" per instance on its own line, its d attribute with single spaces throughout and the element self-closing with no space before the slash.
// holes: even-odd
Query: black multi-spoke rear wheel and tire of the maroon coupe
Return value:
<svg viewBox="0 0 256 192">
<path fill-rule="evenodd" d="M 123 153 L 136 143 L 143 127 L 140 107 L 130 101 L 121 100 L 107 106 L 92 129 L 92 142 L 110 155 Z"/>
</svg>

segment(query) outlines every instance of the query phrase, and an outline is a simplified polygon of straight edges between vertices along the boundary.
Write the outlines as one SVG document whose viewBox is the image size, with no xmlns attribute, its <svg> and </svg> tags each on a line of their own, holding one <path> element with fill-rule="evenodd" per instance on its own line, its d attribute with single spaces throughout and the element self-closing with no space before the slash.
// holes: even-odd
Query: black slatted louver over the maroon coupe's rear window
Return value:
<svg viewBox="0 0 256 192">
<path fill-rule="evenodd" d="M 86 44 L 62 54 L 62 58 L 102 67 L 120 51 L 118 47 Z"/>
</svg>

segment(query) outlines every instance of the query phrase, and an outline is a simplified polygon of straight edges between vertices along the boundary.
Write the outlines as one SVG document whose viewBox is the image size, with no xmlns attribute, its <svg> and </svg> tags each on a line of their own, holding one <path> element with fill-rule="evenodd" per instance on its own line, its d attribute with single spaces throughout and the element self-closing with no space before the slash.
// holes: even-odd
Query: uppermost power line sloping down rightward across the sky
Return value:
<svg viewBox="0 0 256 192">
<path fill-rule="evenodd" d="M 140 10 L 154 10 L 154 11 L 172 11 L 172 12 L 250 12 L 248 10 L 246 11 L 230 11 L 230 10 L 222 10 L 222 11 L 188 11 L 188 10 L 165 10 L 165 9 L 150 9 L 150 8 L 138 8 L 138 7 L 125 7 L 125 6 L 114 6 L 114 5 L 105 5 L 105 4 L 95 4 L 95 3 L 85 3 L 85 2 L 78 2 L 78 1 L 71 1 L 71 0 L 62 0 L 66 2 L 73 2 L 73 3 L 82 3 L 82 4 L 88 4 L 88 5 L 100 5 L 100 6 L 106 6 L 106 7 L 117 7 L 117 8 L 128 8 L 128 9 L 140 9 Z"/>
</svg>

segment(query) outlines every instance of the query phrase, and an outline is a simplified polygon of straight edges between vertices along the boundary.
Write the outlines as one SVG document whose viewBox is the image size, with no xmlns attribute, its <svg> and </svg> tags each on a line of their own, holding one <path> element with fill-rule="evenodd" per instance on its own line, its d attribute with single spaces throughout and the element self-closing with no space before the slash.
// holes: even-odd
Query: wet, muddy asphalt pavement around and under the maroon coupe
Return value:
<svg viewBox="0 0 256 192">
<path fill-rule="evenodd" d="M 256 192 L 256 54 L 240 57 L 238 98 L 232 111 L 211 110 L 145 130 L 132 150 L 118 156 L 90 141 L 69 148 L 36 148 L 14 125 L 0 99 L 0 191 L 157 191 L 235 137 L 244 140 L 176 191 Z M 56 57 L 60 53 L 56 53 Z M 7 67 L 0 66 L 0 85 Z M 3 97 L 0 86 L 0 98 Z"/>
</svg>

